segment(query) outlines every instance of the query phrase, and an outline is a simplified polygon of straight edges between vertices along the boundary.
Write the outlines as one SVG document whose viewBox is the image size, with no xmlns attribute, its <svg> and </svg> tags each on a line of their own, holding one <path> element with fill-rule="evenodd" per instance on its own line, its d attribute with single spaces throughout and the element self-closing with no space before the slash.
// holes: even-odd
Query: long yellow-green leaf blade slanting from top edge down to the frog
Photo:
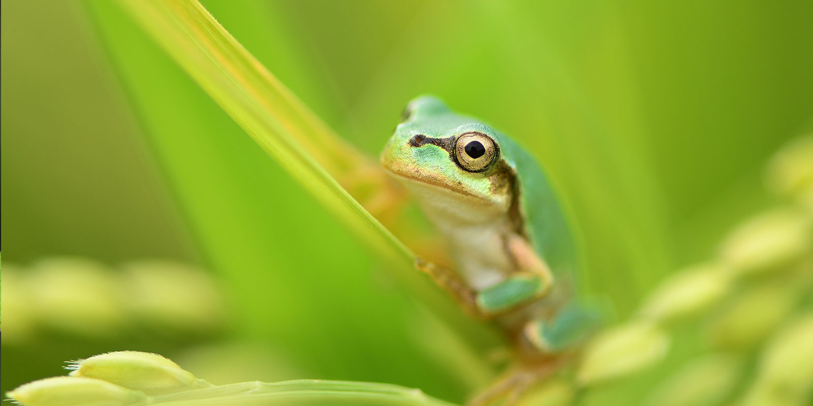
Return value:
<svg viewBox="0 0 813 406">
<path fill-rule="evenodd" d="M 341 145 L 308 114 L 251 54 L 193 0 L 120 0 L 141 27 L 240 124 L 265 151 L 333 210 L 339 218 L 393 260 L 412 253 L 363 209 L 322 166 L 334 172 L 366 158 Z M 307 148 L 311 145 L 310 148 Z M 320 145 L 315 147 L 314 145 Z M 333 150 L 328 155 L 325 151 Z M 335 158 L 343 157 L 343 158 Z"/>
</svg>

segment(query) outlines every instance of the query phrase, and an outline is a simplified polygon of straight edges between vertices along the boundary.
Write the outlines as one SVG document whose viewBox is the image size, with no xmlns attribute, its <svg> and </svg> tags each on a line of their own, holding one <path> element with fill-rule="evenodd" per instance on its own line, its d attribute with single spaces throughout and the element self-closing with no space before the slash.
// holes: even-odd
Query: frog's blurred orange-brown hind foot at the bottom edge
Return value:
<svg viewBox="0 0 813 406">
<path fill-rule="evenodd" d="M 565 361 L 563 356 L 552 356 L 533 365 L 520 365 L 510 369 L 491 387 L 470 400 L 467 406 L 487 406 L 496 404 L 499 400 L 502 400 L 499 403 L 501 406 L 513 406 L 528 389 L 555 374 Z"/>
</svg>

